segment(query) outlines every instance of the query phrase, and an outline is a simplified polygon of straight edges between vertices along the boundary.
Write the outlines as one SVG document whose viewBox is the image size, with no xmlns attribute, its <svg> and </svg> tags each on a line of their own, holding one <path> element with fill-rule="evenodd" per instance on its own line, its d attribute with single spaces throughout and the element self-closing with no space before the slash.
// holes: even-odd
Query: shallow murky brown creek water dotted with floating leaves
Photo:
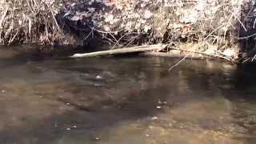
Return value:
<svg viewBox="0 0 256 144">
<path fill-rule="evenodd" d="M 254 66 L 1 50 L 1 144 L 254 144 Z"/>
</svg>

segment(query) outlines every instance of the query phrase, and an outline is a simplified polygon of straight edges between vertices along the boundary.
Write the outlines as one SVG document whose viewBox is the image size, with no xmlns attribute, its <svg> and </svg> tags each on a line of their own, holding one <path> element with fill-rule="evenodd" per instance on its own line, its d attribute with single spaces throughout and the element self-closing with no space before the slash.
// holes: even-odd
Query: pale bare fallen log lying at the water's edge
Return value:
<svg viewBox="0 0 256 144">
<path fill-rule="evenodd" d="M 117 55 L 117 54 L 130 54 L 130 53 L 138 53 L 138 52 L 146 52 L 146 51 L 160 51 L 166 48 L 167 45 L 150 45 L 150 46 L 134 46 L 130 48 L 122 48 L 115 50 L 105 50 L 105 51 L 97 51 L 92 53 L 85 54 L 74 54 L 70 56 L 70 58 L 91 58 L 91 57 L 99 57 L 106 55 Z"/>
</svg>

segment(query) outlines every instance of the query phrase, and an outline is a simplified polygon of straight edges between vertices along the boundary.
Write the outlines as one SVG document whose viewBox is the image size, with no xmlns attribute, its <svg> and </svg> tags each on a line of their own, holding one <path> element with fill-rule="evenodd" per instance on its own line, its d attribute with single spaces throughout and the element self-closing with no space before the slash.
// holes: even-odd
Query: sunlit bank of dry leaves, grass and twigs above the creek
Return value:
<svg viewBox="0 0 256 144">
<path fill-rule="evenodd" d="M 101 38 L 112 49 L 145 43 L 177 49 L 186 42 L 197 43 L 192 51 L 237 59 L 255 36 L 249 0 L 1 0 L 0 11 L 2 44 Z"/>
</svg>

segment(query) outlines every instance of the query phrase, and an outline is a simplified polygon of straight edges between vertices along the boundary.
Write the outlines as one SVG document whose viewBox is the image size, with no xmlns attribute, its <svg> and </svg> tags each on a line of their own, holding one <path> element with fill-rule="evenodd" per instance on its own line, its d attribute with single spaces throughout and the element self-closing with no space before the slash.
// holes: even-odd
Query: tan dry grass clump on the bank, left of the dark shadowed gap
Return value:
<svg viewBox="0 0 256 144">
<path fill-rule="evenodd" d="M 54 3 L 38 0 L 2 0 L 0 42 L 49 44 L 62 35 Z"/>
</svg>

